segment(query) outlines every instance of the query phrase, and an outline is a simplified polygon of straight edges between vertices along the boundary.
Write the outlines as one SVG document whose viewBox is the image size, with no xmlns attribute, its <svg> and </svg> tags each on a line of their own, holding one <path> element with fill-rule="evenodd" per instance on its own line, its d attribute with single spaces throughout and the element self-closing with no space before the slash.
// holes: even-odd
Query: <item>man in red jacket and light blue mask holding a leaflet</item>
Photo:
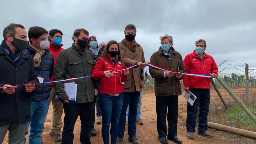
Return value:
<svg viewBox="0 0 256 144">
<path fill-rule="evenodd" d="M 216 78 L 218 75 L 218 68 L 213 57 L 205 53 L 206 42 L 204 39 L 196 41 L 196 48 L 193 53 L 186 55 L 183 60 L 186 73 L 196 73 L 203 75 L 210 75 Z M 195 77 L 185 75 L 183 78 L 183 85 L 185 91 L 191 91 L 197 98 L 191 106 L 187 106 L 186 129 L 187 137 L 194 139 L 194 132 L 196 127 L 196 117 L 199 107 L 199 125 L 198 135 L 205 137 L 212 137 L 207 132 L 207 116 L 210 105 L 210 82 L 211 78 Z"/>
</svg>

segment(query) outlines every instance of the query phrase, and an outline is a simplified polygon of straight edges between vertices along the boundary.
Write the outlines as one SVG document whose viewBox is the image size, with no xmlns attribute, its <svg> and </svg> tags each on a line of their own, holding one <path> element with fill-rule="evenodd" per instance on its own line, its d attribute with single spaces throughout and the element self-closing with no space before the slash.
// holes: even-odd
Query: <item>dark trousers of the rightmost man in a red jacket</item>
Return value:
<svg viewBox="0 0 256 144">
<path fill-rule="evenodd" d="M 196 117 L 198 114 L 198 132 L 202 133 L 207 130 L 207 116 L 209 113 L 210 105 L 210 89 L 189 89 L 197 98 L 191 106 L 188 103 L 187 106 L 187 118 L 186 118 L 186 129 L 187 132 L 195 132 L 196 127 Z"/>
</svg>

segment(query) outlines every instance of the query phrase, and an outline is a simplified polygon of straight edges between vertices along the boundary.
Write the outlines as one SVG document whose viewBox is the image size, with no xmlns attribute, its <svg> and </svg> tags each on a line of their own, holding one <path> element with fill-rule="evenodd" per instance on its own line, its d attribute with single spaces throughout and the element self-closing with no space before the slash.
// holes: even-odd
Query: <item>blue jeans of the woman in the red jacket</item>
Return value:
<svg viewBox="0 0 256 144">
<path fill-rule="evenodd" d="M 121 114 L 124 93 L 119 96 L 100 94 L 100 109 L 102 111 L 102 138 L 104 144 L 109 144 L 109 126 L 111 123 L 111 144 L 117 143 L 118 122 Z"/>
</svg>

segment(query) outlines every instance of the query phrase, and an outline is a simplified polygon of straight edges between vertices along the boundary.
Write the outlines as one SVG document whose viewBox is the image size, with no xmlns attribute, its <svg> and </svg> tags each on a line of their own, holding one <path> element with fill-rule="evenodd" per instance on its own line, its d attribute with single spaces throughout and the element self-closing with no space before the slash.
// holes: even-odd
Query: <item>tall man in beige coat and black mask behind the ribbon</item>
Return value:
<svg viewBox="0 0 256 144">
<path fill-rule="evenodd" d="M 127 25 L 124 29 L 124 35 L 125 39 L 119 43 L 122 61 L 124 61 L 125 66 L 140 65 L 139 68 L 130 69 L 128 79 L 124 84 L 124 101 L 118 124 L 117 143 L 124 144 L 125 118 L 129 104 L 128 141 L 133 144 L 140 144 L 136 138 L 136 115 L 139 97 L 144 86 L 141 71 L 147 64 L 142 47 L 135 41 L 136 27 L 132 24 Z"/>
</svg>

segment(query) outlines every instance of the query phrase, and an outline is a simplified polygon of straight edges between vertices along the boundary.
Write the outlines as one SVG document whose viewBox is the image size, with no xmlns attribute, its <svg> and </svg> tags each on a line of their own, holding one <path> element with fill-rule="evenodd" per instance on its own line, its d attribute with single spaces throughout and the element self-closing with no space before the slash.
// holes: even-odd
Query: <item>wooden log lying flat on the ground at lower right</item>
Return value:
<svg viewBox="0 0 256 144">
<path fill-rule="evenodd" d="M 221 125 L 221 124 L 213 123 L 213 122 L 208 122 L 208 127 L 256 139 L 256 133 L 251 132 L 249 130 L 238 129 L 235 127 L 225 126 L 225 125 Z"/>
</svg>

